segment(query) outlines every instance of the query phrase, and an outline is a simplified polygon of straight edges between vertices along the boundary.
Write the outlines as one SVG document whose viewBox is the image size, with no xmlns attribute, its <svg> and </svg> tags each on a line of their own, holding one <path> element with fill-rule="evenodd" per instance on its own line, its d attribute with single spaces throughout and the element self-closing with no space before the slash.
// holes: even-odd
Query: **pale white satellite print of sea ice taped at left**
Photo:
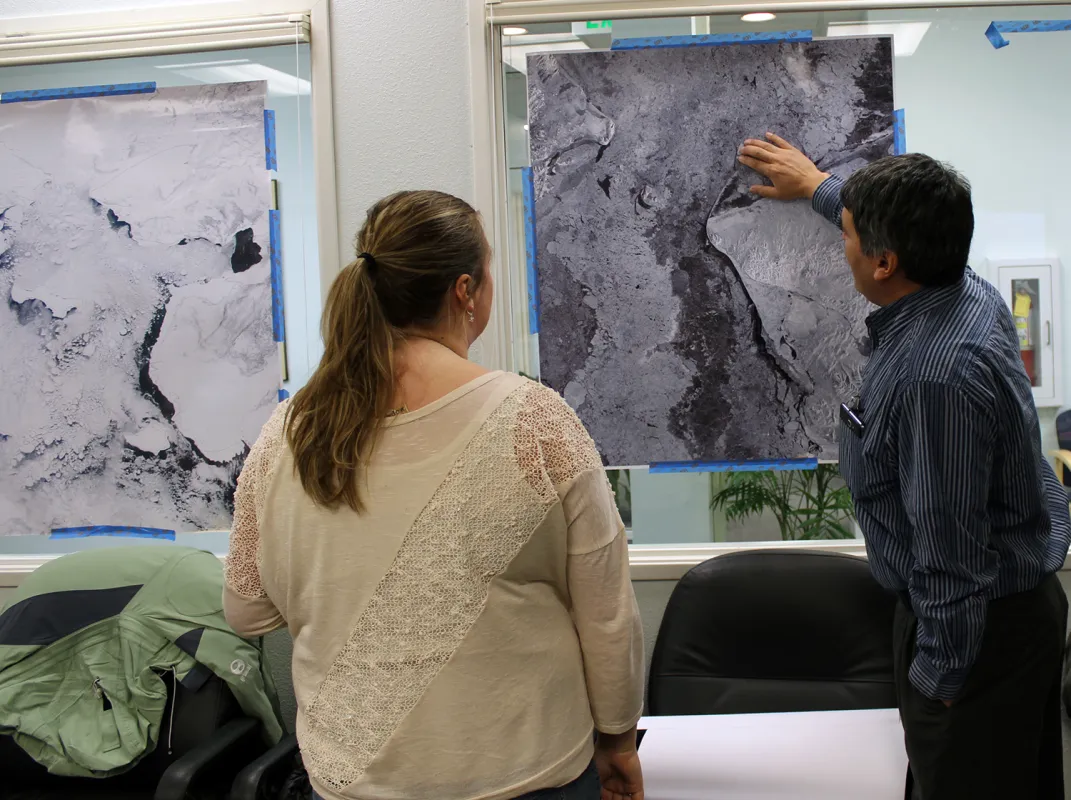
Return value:
<svg viewBox="0 0 1071 800">
<path fill-rule="evenodd" d="M 281 377 L 266 91 L 0 105 L 0 534 L 229 527 Z"/>
</svg>

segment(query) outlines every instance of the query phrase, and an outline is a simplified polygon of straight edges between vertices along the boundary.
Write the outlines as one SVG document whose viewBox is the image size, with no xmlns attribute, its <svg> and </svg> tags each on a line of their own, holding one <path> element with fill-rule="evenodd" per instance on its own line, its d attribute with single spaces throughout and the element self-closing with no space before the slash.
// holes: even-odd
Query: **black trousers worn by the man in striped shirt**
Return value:
<svg viewBox="0 0 1071 800">
<path fill-rule="evenodd" d="M 917 621 L 893 627 L 896 698 L 921 800 L 1064 800 L 1060 683 L 1068 601 L 1055 576 L 990 602 L 978 660 L 952 706 L 907 678 Z"/>
</svg>

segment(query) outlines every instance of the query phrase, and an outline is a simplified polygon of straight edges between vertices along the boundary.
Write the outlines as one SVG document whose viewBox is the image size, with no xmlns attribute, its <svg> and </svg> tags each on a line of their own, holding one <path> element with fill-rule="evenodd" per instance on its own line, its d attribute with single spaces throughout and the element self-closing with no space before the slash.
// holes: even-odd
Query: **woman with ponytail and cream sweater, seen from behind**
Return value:
<svg viewBox="0 0 1071 800">
<path fill-rule="evenodd" d="M 466 358 L 493 293 L 476 211 L 403 192 L 358 250 L 245 462 L 226 570 L 236 631 L 293 636 L 314 788 L 642 800 L 624 529 L 561 398 Z"/>
</svg>

